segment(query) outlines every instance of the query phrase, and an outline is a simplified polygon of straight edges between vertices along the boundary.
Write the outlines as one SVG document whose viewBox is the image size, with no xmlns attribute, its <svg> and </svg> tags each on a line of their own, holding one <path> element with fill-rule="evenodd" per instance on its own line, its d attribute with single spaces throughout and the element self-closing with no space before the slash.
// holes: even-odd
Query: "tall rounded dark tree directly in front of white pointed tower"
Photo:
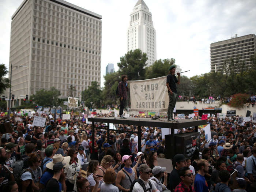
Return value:
<svg viewBox="0 0 256 192">
<path fill-rule="evenodd" d="M 130 50 L 123 57 L 120 57 L 119 67 L 120 75 L 127 75 L 128 80 L 145 79 L 147 54 L 142 53 L 140 49 Z"/>
</svg>

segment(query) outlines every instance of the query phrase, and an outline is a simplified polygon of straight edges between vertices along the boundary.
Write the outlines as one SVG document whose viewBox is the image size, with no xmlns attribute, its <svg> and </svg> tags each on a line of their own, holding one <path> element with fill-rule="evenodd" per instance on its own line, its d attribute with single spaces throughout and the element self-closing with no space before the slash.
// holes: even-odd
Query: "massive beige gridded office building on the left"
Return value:
<svg viewBox="0 0 256 192">
<path fill-rule="evenodd" d="M 64 0 L 24 0 L 11 19 L 15 99 L 50 87 L 65 98 L 70 85 L 81 98 L 92 81 L 101 84 L 101 15 Z"/>
</svg>

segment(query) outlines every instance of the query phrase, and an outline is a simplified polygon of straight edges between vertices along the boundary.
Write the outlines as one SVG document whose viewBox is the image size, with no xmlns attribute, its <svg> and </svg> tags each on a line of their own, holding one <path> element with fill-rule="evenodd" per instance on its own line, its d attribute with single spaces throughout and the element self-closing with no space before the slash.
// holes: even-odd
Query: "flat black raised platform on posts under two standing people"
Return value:
<svg viewBox="0 0 256 192">
<path fill-rule="evenodd" d="M 128 117 L 127 119 L 120 119 L 120 117 L 95 117 L 88 118 L 88 121 L 91 121 L 93 124 L 93 135 L 95 134 L 95 128 L 105 128 L 105 127 L 95 127 L 95 123 L 107 123 L 106 129 L 108 131 L 107 137 L 109 140 L 109 130 L 116 131 L 114 129 L 109 129 L 109 124 L 123 124 L 123 125 L 137 125 L 138 126 L 138 151 L 141 151 L 141 126 L 148 127 L 161 127 L 161 128 L 170 128 L 171 129 L 171 146 L 174 147 L 174 129 L 182 129 L 188 127 L 195 127 L 195 131 L 198 131 L 199 125 L 207 124 L 206 120 L 189 120 L 189 119 L 178 119 L 178 122 L 169 122 L 166 118 L 161 118 L 161 120 L 152 120 L 151 118 L 136 118 Z M 119 131 L 119 132 L 130 132 L 130 131 Z M 92 138 L 94 143 L 94 137 Z M 165 143 L 167 144 L 167 143 Z M 92 146 L 94 151 L 94 145 Z M 174 148 L 171 149 L 174 151 Z"/>
</svg>

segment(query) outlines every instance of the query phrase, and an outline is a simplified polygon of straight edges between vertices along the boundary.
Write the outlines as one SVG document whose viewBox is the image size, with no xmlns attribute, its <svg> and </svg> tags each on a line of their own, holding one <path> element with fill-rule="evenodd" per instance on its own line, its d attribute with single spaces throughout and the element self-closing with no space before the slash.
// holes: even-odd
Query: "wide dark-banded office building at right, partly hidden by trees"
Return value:
<svg viewBox="0 0 256 192">
<path fill-rule="evenodd" d="M 211 72 L 222 71 L 222 65 L 225 60 L 230 58 L 236 59 L 241 57 L 240 61 L 244 61 L 245 66 L 250 68 L 252 62 L 250 58 L 256 53 L 256 36 L 255 34 L 244 35 L 224 41 L 218 41 L 211 44 Z"/>
</svg>

